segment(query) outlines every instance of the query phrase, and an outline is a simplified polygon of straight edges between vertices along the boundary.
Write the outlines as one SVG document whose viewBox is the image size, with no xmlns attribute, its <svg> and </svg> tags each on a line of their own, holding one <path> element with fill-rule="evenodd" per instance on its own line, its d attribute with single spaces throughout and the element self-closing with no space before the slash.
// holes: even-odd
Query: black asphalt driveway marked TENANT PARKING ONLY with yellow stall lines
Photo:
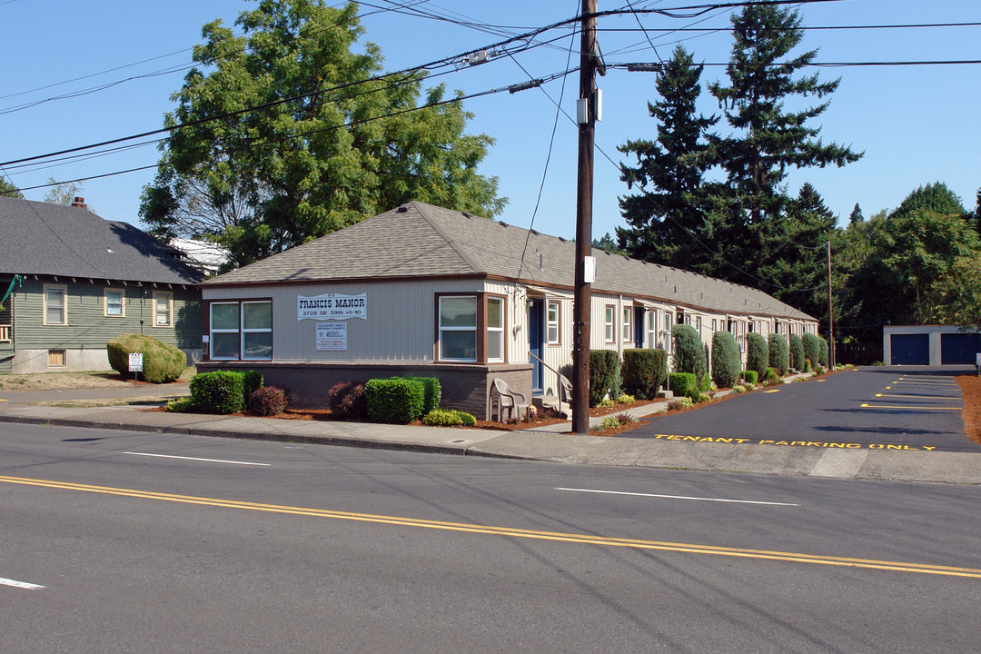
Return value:
<svg viewBox="0 0 981 654">
<path fill-rule="evenodd" d="M 660 434 L 750 438 L 978 452 L 960 417 L 955 375 L 973 369 L 862 368 L 804 383 L 755 391 L 699 408 L 657 416 L 634 436 Z"/>
</svg>

